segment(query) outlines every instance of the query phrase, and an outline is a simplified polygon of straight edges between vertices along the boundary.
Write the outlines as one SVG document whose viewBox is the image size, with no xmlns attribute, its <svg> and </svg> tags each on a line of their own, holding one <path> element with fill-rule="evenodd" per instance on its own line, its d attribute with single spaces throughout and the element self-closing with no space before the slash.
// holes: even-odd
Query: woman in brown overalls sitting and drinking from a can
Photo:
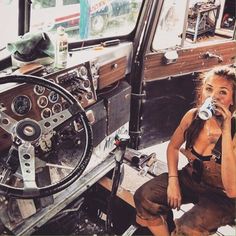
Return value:
<svg viewBox="0 0 236 236">
<path fill-rule="evenodd" d="M 215 68 L 201 79 L 198 108 L 189 110 L 167 148 L 168 173 L 141 186 L 135 193 L 137 223 L 154 235 L 209 235 L 235 218 L 236 198 L 236 103 L 235 68 Z M 214 114 L 198 116 L 199 104 L 213 99 Z M 185 142 L 185 149 L 181 149 Z M 178 171 L 179 151 L 189 164 Z M 171 209 L 193 203 L 175 220 Z M 167 223 L 166 223 L 167 222 Z"/>
</svg>

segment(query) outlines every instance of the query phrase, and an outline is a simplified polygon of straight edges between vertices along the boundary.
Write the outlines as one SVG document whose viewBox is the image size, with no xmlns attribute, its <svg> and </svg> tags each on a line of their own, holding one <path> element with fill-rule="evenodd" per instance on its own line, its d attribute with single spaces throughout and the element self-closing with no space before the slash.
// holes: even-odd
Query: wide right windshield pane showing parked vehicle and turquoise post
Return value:
<svg viewBox="0 0 236 236">
<path fill-rule="evenodd" d="M 141 0 L 34 0 L 30 31 L 54 34 L 63 26 L 69 41 L 129 34 L 135 27 Z"/>
</svg>

